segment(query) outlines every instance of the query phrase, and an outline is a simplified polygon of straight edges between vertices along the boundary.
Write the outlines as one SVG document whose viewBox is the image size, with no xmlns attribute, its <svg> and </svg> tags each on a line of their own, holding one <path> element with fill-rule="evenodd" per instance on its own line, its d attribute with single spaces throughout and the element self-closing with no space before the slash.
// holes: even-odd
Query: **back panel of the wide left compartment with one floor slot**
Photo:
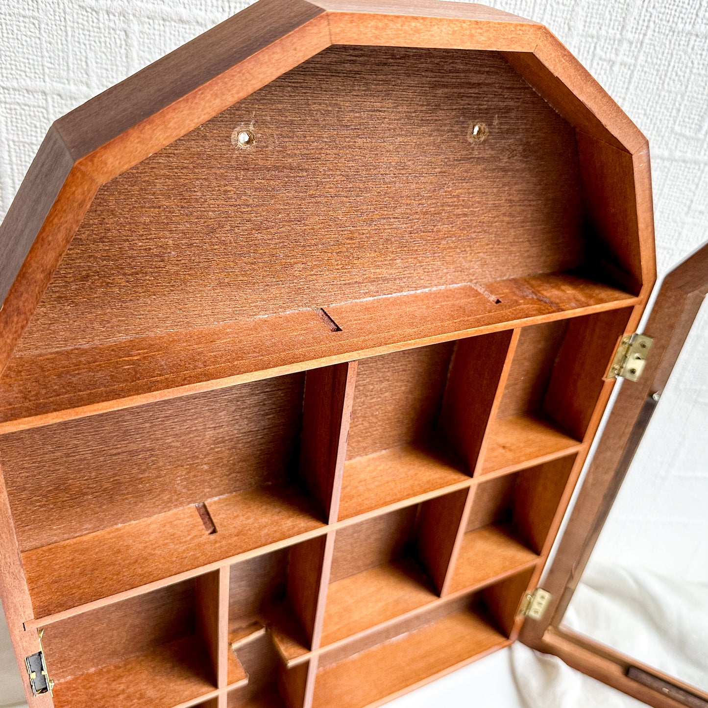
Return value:
<svg viewBox="0 0 708 708">
<path fill-rule="evenodd" d="M 0 436 L 21 549 L 292 479 L 303 388 L 264 379 Z"/>
</svg>

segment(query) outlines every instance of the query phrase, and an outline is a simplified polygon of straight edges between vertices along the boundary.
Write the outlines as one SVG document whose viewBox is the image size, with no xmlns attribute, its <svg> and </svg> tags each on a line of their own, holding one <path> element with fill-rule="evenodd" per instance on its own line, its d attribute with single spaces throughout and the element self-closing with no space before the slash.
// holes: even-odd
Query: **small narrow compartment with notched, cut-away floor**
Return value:
<svg viewBox="0 0 708 708">
<path fill-rule="evenodd" d="M 320 536 L 231 566 L 229 645 L 236 656 L 263 634 L 286 664 L 312 648 L 325 545 Z"/>
</svg>

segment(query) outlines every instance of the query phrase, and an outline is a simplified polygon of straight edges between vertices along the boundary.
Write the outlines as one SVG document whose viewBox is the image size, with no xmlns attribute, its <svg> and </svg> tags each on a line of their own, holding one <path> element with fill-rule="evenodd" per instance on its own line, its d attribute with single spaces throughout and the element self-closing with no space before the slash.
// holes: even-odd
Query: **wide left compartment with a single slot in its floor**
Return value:
<svg viewBox="0 0 708 708">
<path fill-rule="evenodd" d="M 37 616 L 324 527 L 300 469 L 305 377 L 2 436 Z"/>
</svg>

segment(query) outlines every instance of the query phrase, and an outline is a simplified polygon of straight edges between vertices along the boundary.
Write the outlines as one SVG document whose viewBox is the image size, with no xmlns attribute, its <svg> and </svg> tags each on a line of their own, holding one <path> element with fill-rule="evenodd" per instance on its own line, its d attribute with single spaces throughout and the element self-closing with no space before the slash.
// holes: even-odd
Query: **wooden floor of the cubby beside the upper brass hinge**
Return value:
<svg viewBox="0 0 708 708">
<path fill-rule="evenodd" d="M 515 472 L 556 457 L 571 455 L 582 443 L 543 416 L 523 413 L 492 423 L 489 447 L 482 460 L 481 474 Z"/>
</svg>

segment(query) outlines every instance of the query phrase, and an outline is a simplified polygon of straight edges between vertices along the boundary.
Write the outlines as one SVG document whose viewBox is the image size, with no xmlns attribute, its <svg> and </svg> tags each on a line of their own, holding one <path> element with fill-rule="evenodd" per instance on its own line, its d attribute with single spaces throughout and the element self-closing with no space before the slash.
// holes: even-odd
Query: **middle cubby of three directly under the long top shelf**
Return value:
<svg viewBox="0 0 708 708">
<path fill-rule="evenodd" d="M 504 331 L 358 363 L 339 518 L 464 486 L 510 338 Z"/>
</svg>

